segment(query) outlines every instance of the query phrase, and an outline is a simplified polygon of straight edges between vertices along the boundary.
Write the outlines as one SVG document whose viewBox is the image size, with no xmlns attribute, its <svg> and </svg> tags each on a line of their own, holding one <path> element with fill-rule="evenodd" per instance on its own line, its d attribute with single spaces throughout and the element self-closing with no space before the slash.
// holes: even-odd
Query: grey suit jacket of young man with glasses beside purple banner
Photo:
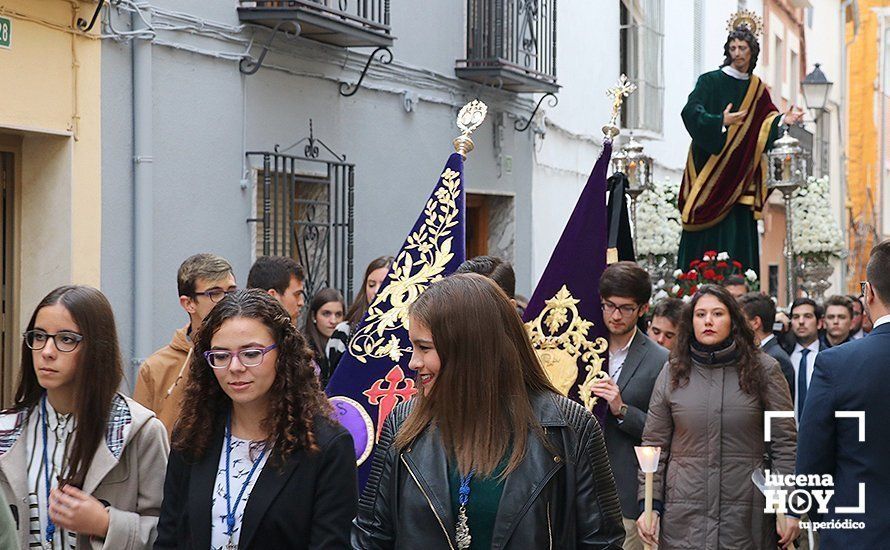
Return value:
<svg viewBox="0 0 890 550">
<path fill-rule="evenodd" d="M 618 389 L 621 400 L 627 404 L 627 414 L 619 424 L 611 411 L 607 411 L 603 423 L 606 449 L 621 501 L 621 514 L 630 519 L 640 515 L 637 499 L 640 466 L 634 447 L 642 442 L 652 388 L 667 359 L 668 350 L 649 339 L 643 331 L 637 330 L 618 375 Z"/>
</svg>

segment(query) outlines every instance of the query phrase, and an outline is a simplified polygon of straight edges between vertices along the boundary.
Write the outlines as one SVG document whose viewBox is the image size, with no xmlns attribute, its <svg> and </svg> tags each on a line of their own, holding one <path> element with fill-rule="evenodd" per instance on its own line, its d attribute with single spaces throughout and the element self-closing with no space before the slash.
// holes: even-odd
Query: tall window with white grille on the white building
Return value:
<svg viewBox="0 0 890 550">
<path fill-rule="evenodd" d="M 664 124 L 664 0 L 620 0 L 621 72 L 637 85 L 624 128 L 661 133 Z"/>
</svg>

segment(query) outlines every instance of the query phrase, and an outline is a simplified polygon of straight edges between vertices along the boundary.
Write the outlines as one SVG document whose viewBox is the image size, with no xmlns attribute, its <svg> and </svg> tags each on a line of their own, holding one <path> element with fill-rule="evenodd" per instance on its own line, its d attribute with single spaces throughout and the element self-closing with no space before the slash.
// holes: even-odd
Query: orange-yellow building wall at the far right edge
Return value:
<svg viewBox="0 0 890 550">
<path fill-rule="evenodd" d="M 851 224 L 861 223 L 874 228 L 874 213 L 880 197 L 879 129 L 875 112 L 880 66 L 880 21 L 873 8 L 890 6 L 890 0 L 859 0 L 859 33 L 853 40 L 852 25 L 847 29 L 847 40 L 853 40 L 849 51 L 849 90 L 847 135 L 847 189 Z M 857 236 L 850 231 L 848 258 L 849 290 L 858 292 L 859 281 L 865 280 L 868 253 L 874 244 L 867 228 Z"/>
</svg>

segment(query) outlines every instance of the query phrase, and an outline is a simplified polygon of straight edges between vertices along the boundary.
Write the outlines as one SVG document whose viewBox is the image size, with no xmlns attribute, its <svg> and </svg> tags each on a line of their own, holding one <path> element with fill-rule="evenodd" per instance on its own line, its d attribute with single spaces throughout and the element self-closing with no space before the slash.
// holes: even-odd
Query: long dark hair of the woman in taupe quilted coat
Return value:
<svg viewBox="0 0 890 550">
<path fill-rule="evenodd" d="M 699 287 L 692 301 L 683 309 L 680 328 L 677 331 L 677 340 L 671 350 L 671 388 L 681 388 L 689 383 L 689 373 L 692 371 L 692 356 L 689 349 L 692 343 L 696 341 L 692 319 L 695 315 L 696 304 L 703 296 L 708 295 L 720 300 L 720 303 L 726 306 L 726 309 L 729 311 L 729 320 L 732 323 L 729 337 L 735 341 L 738 350 L 739 386 L 748 395 L 762 397 L 766 388 L 766 376 L 758 357 L 760 351 L 754 342 L 754 332 L 748 325 L 741 306 L 732 297 L 732 294 L 722 286 L 717 285 Z"/>
</svg>

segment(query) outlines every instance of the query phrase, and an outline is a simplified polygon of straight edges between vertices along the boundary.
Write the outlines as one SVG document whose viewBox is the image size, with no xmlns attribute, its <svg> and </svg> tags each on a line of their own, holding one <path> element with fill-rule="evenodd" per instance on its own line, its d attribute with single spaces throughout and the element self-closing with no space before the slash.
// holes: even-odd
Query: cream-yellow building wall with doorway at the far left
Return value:
<svg viewBox="0 0 890 550">
<path fill-rule="evenodd" d="M 10 302 L 2 330 L 10 342 L 53 288 L 99 286 L 101 43 L 97 28 L 85 35 L 76 27 L 96 6 L 0 0 L 0 17 L 12 23 L 10 48 L 0 48 L 0 152 L 15 159 L 12 251 L 3 258 Z M 8 406 L 19 353 L 6 346 L 0 354 L 0 405 Z"/>
</svg>

